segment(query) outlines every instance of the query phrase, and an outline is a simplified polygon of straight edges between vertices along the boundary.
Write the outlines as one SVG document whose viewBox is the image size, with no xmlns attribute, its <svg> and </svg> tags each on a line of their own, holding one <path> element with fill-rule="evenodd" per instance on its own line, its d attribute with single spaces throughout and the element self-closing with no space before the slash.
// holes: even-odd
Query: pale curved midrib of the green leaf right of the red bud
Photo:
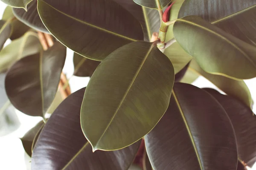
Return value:
<svg viewBox="0 0 256 170">
<path fill-rule="evenodd" d="M 183 23 L 188 23 L 188 24 L 191 24 L 192 26 L 197 26 L 197 27 L 199 27 L 201 29 L 204 29 L 204 30 L 208 31 L 209 33 L 212 33 L 212 34 L 220 37 L 221 39 L 225 40 L 230 45 L 232 45 L 234 48 L 236 48 L 238 51 L 240 51 L 241 54 L 243 54 L 249 60 L 249 62 L 251 62 L 251 64 L 256 68 L 256 63 L 254 63 L 253 60 L 250 59 L 250 57 L 243 50 L 241 50 L 241 48 L 239 48 L 236 44 L 234 44 L 233 42 L 231 42 L 230 40 L 228 40 L 226 37 L 222 36 L 221 34 L 218 34 L 217 32 L 210 30 L 209 28 L 206 28 L 204 26 L 200 26 L 200 25 L 198 25 L 196 23 L 193 23 L 191 21 L 183 20 L 182 18 L 181 19 L 177 19 L 177 21 L 180 21 L 180 22 L 183 22 Z"/>
</svg>

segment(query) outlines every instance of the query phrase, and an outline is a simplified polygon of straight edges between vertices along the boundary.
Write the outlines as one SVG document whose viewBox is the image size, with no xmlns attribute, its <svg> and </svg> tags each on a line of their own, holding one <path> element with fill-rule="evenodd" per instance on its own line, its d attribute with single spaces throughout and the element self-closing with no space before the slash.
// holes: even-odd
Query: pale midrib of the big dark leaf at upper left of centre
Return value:
<svg viewBox="0 0 256 170">
<path fill-rule="evenodd" d="M 112 32 L 112 31 L 106 30 L 106 29 L 104 29 L 104 28 L 101 28 L 101 27 L 95 26 L 95 25 L 93 25 L 93 24 L 86 23 L 86 22 L 85 22 L 85 21 L 83 21 L 83 20 L 79 20 L 79 19 L 77 19 L 77 18 L 75 18 L 75 17 L 72 17 L 72 16 L 70 16 L 70 15 L 68 15 L 68 14 L 65 14 L 64 12 L 62 12 L 62 11 L 60 11 L 60 10 L 56 9 L 55 7 L 53 7 L 53 6 L 49 5 L 49 4 L 48 4 L 48 3 L 46 3 L 44 0 L 41 0 L 41 2 L 44 2 L 45 4 L 47 4 L 48 6 L 50 6 L 51 8 L 53 8 L 54 10 L 58 11 L 59 13 L 61 13 L 61 14 L 65 15 L 65 16 L 67 16 L 67 17 L 70 17 L 70 18 L 72 18 L 73 20 L 76 20 L 76 21 L 78 21 L 78 22 L 80 22 L 80 23 L 83 23 L 83 24 L 85 24 L 85 25 L 87 25 L 87 26 L 90 26 L 90 27 L 93 27 L 93 28 L 99 29 L 100 31 L 104 31 L 104 32 L 107 32 L 107 33 L 109 33 L 109 34 L 113 34 L 113 35 L 115 35 L 115 36 L 117 36 L 117 37 L 121 37 L 121 38 L 124 38 L 124 39 L 126 39 L 126 40 L 130 40 L 130 41 L 138 41 L 138 40 L 135 40 L 135 39 L 132 39 L 132 38 L 126 37 L 126 36 L 124 36 L 124 35 L 117 34 L 117 33 L 115 33 L 115 32 Z"/>
</svg>

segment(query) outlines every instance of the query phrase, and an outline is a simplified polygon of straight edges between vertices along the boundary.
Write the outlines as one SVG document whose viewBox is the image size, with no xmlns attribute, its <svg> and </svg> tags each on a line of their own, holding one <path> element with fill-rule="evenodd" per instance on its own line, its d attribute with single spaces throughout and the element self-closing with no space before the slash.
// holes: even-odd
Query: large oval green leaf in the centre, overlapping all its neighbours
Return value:
<svg viewBox="0 0 256 170">
<path fill-rule="evenodd" d="M 165 113 L 174 69 L 155 43 L 132 42 L 103 60 L 87 86 L 81 127 L 93 150 L 117 150 L 147 134 Z"/>
</svg>

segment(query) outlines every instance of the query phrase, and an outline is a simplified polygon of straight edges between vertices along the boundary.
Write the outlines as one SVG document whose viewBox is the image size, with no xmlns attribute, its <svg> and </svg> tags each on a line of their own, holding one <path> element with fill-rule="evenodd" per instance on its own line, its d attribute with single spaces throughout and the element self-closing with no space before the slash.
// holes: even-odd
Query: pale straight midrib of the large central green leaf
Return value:
<svg viewBox="0 0 256 170">
<path fill-rule="evenodd" d="M 108 123 L 107 127 L 105 128 L 104 132 L 102 133 L 102 136 L 100 136 L 99 140 L 95 143 L 95 146 L 93 146 L 93 150 L 95 150 L 95 147 L 97 146 L 97 144 L 99 143 L 99 141 L 102 139 L 102 137 L 104 136 L 104 134 L 105 134 L 106 131 L 108 130 L 108 127 L 109 127 L 109 126 L 111 125 L 111 123 L 113 122 L 113 119 L 114 119 L 114 117 L 116 116 L 116 113 L 118 113 L 119 109 L 121 108 L 121 106 L 122 106 L 122 104 L 123 104 L 123 102 L 124 102 L 126 96 L 128 95 L 129 91 L 131 90 L 132 85 L 134 84 L 136 78 L 138 77 L 138 75 L 139 75 L 139 73 L 140 73 L 140 70 L 142 69 L 142 67 L 143 67 L 143 65 L 144 65 L 144 63 L 145 63 L 145 61 L 146 61 L 146 59 L 148 58 L 148 56 L 149 56 L 149 54 L 151 53 L 151 51 L 152 51 L 152 49 L 154 48 L 154 46 L 155 46 L 155 44 L 152 43 L 152 45 L 151 45 L 151 47 L 149 48 L 147 54 L 145 55 L 143 61 L 141 62 L 141 64 L 140 64 L 138 70 L 136 71 L 136 73 L 135 73 L 135 75 L 134 75 L 134 77 L 133 77 L 133 79 L 132 79 L 130 85 L 128 86 L 127 90 L 125 91 L 125 94 L 124 94 L 124 96 L 123 96 L 121 102 L 119 103 L 118 107 L 116 108 L 115 113 L 114 113 L 113 116 L 111 117 L 110 122 Z"/>
</svg>

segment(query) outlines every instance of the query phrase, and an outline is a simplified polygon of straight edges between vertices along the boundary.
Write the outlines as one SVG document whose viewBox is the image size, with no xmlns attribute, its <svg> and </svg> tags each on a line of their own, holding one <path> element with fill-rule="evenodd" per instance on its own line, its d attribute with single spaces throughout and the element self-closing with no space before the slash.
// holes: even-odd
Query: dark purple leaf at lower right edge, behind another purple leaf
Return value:
<svg viewBox="0 0 256 170">
<path fill-rule="evenodd" d="M 248 166 L 256 162 L 256 117 L 246 105 L 220 94 L 213 89 L 204 89 L 223 106 L 233 124 L 238 148 L 238 157 Z"/>
</svg>

